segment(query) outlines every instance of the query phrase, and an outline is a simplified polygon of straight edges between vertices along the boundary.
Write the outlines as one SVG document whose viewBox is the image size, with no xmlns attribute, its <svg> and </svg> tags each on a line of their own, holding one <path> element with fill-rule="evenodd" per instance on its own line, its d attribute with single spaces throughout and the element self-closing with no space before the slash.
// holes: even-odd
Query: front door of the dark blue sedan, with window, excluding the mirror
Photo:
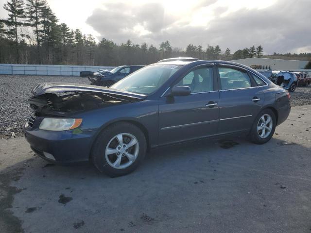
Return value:
<svg viewBox="0 0 311 233">
<path fill-rule="evenodd" d="M 219 91 L 215 81 L 213 66 L 199 66 L 174 85 L 189 86 L 189 96 L 160 98 L 159 145 L 217 133 Z"/>
</svg>

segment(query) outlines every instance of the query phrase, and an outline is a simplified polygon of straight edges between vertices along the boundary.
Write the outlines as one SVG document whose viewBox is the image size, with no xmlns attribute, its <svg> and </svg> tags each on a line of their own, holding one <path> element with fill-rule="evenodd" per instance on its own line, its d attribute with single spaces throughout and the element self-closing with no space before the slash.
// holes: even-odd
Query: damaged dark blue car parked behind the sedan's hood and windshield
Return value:
<svg viewBox="0 0 311 233">
<path fill-rule="evenodd" d="M 121 79 L 125 78 L 127 75 L 135 72 L 136 70 L 144 66 L 120 66 L 115 67 L 112 70 L 102 70 L 93 73 L 92 77 L 89 77 L 92 85 L 97 86 L 111 86 L 113 83 L 117 83 Z"/>
</svg>

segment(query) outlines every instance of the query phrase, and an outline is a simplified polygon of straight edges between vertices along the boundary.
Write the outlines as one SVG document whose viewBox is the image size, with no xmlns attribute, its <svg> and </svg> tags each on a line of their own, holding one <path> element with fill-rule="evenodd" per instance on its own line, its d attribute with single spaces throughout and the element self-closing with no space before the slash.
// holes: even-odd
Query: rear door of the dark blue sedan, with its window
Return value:
<svg viewBox="0 0 311 233">
<path fill-rule="evenodd" d="M 220 90 L 220 123 L 218 133 L 249 130 L 264 103 L 264 93 L 246 69 L 229 65 L 217 66 Z M 255 75 L 256 76 L 256 75 Z M 261 83 L 260 83 L 261 81 Z"/>
</svg>

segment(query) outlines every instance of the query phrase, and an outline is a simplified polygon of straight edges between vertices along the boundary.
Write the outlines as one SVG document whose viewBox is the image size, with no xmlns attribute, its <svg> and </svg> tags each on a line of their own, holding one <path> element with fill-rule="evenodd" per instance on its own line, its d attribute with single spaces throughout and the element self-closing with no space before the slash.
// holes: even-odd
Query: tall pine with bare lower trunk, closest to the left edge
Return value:
<svg viewBox="0 0 311 233">
<path fill-rule="evenodd" d="M 16 62 L 19 63 L 17 27 L 23 25 L 23 19 L 26 17 L 24 12 L 24 1 L 9 0 L 3 5 L 3 8 L 9 12 L 9 17 L 4 20 L 4 23 L 9 27 L 9 33 L 15 37 Z"/>
</svg>

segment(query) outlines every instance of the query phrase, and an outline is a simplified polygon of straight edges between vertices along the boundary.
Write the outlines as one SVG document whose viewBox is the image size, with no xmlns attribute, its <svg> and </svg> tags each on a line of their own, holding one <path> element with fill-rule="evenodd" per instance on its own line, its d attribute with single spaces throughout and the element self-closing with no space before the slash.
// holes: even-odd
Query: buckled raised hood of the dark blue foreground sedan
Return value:
<svg viewBox="0 0 311 233">
<path fill-rule="evenodd" d="M 136 94 L 127 91 L 121 91 L 117 89 L 112 89 L 104 86 L 94 86 L 94 85 L 86 85 L 86 84 L 78 84 L 78 83 L 38 83 L 31 93 L 34 96 L 40 96 L 46 93 L 64 93 L 64 92 L 97 92 L 97 93 L 104 93 L 110 94 L 114 96 L 120 97 L 128 97 L 131 99 L 138 99 L 142 100 L 145 99 L 147 96 Z"/>
</svg>

